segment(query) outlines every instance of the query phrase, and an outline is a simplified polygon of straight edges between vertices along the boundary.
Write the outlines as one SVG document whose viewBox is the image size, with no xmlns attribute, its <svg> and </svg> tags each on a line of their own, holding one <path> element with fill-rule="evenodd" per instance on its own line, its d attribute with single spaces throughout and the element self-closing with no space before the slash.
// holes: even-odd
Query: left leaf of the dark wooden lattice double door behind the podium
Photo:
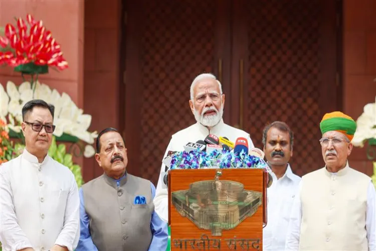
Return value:
<svg viewBox="0 0 376 251">
<path fill-rule="evenodd" d="M 127 171 L 156 184 L 171 135 L 196 120 L 196 75 L 216 74 L 230 93 L 230 1 L 126 2 Z M 228 116 L 225 109 L 224 118 Z"/>
</svg>

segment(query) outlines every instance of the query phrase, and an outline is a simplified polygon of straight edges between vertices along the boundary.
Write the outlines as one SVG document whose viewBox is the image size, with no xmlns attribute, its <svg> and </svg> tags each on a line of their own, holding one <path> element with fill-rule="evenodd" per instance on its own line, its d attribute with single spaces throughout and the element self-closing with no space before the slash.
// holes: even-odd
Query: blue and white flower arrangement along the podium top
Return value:
<svg viewBox="0 0 376 251">
<path fill-rule="evenodd" d="M 245 152 L 236 154 L 228 150 L 214 150 L 211 153 L 194 150 L 191 152 L 177 152 L 173 154 L 170 169 L 204 169 L 204 168 L 260 168 L 269 172 L 266 162 Z"/>
</svg>

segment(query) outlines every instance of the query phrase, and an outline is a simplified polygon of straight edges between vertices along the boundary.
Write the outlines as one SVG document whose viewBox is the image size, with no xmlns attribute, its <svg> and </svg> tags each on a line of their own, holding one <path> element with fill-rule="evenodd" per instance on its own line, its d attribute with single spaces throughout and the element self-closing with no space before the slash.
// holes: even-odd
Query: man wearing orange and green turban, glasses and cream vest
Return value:
<svg viewBox="0 0 376 251">
<path fill-rule="evenodd" d="M 356 123 L 335 111 L 320 129 L 325 167 L 302 177 L 285 250 L 376 250 L 375 189 L 347 161 Z"/>
</svg>

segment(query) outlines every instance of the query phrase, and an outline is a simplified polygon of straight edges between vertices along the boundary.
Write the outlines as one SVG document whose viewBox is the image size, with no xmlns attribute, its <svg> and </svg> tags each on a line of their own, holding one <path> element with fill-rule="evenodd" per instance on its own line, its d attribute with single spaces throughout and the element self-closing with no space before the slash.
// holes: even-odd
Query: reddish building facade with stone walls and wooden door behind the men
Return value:
<svg viewBox="0 0 376 251">
<path fill-rule="evenodd" d="M 92 115 L 90 131 L 118 128 L 128 172 L 156 183 L 170 136 L 194 123 L 190 84 L 218 76 L 224 120 L 250 133 L 283 120 L 295 133 L 291 167 L 323 166 L 319 122 L 342 110 L 356 119 L 376 94 L 376 0 L 3 1 L 0 26 L 30 13 L 61 43 L 70 68 L 40 81 Z M 0 69 L 0 82 L 23 82 Z M 102 170 L 76 158 L 85 181 Z M 365 149 L 350 165 L 368 175 Z"/>
</svg>

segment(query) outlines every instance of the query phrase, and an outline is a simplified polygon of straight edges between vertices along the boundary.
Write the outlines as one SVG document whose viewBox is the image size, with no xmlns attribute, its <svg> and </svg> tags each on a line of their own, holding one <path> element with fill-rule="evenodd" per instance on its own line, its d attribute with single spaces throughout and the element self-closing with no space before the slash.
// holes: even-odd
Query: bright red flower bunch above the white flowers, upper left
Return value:
<svg viewBox="0 0 376 251">
<path fill-rule="evenodd" d="M 51 31 L 30 14 L 26 19 L 27 22 L 19 18 L 17 28 L 12 24 L 5 26 L 5 37 L 0 36 L 0 65 L 8 64 L 16 71 L 29 74 L 47 73 L 48 66 L 59 70 L 68 68 Z"/>
</svg>

